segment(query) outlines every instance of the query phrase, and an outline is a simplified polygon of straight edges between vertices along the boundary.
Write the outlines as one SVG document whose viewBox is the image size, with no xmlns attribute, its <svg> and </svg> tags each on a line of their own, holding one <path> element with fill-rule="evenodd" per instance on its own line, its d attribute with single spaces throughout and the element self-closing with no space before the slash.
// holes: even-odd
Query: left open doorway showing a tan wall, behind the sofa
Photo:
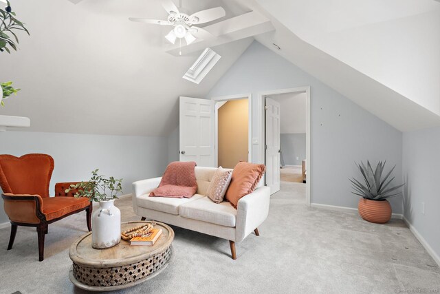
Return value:
<svg viewBox="0 0 440 294">
<path fill-rule="evenodd" d="M 213 98 L 215 101 L 215 166 L 233 169 L 239 161 L 251 161 L 250 95 Z"/>
</svg>

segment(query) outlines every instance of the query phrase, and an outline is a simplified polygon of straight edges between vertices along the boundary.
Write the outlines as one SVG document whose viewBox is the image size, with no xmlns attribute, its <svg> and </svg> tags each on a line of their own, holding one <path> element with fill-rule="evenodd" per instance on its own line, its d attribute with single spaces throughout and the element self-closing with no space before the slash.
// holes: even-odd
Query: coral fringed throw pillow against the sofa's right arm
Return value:
<svg viewBox="0 0 440 294">
<path fill-rule="evenodd" d="M 252 193 L 266 170 L 265 165 L 239 162 L 232 171 L 232 178 L 225 198 L 236 208 L 240 198 Z"/>
</svg>

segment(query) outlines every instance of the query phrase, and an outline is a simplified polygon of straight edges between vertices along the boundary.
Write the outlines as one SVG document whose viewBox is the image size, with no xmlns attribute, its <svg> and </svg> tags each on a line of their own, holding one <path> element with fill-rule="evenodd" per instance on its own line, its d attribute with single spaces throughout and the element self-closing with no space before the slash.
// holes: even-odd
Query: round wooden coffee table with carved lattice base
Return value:
<svg viewBox="0 0 440 294">
<path fill-rule="evenodd" d="M 123 222 L 122 231 L 146 222 Z M 88 291 L 113 291 L 135 286 L 161 273 L 173 255 L 174 231 L 155 222 L 162 235 L 153 246 L 131 246 L 121 242 L 109 249 L 91 247 L 91 232 L 80 237 L 69 250 L 73 266 L 69 278 L 75 286 Z"/>
</svg>

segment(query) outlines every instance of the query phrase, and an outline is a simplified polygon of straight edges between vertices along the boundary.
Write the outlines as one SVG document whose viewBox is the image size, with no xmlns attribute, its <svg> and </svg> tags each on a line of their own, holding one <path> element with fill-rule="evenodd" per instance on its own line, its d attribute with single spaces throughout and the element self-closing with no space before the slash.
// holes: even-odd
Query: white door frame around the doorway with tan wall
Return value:
<svg viewBox="0 0 440 294">
<path fill-rule="evenodd" d="M 218 102 L 248 99 L 248 162 L 252 162 L 252 94 L 236 94 L 212 97 L 214 101 L 214 165 L 219 166 L 219 109 Z"/>
</svg>

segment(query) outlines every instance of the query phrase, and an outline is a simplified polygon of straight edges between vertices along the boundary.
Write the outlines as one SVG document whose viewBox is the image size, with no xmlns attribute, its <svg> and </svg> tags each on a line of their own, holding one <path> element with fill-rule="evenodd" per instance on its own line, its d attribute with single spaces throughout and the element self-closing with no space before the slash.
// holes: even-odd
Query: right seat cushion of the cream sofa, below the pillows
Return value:
<svg viewBox="0 0 440 294">
<path fill-rule="evenodd" d="M 225 227 L 235 227 L 236 209 L 228 202 L 219 204 L 212 202 L 208 197 L 181 204 L 179 216 L 192 218 Z"/>
</svg>

